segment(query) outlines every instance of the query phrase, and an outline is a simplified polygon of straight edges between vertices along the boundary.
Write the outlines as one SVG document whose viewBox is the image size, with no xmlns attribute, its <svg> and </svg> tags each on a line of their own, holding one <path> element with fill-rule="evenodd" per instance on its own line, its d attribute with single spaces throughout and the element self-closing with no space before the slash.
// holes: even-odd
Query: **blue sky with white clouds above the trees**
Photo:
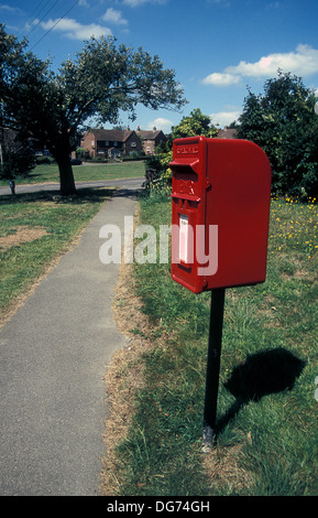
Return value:
<svg viewBox="0 0 318 518">
<path fill-rule="evenodd" d="M 277 68 L 318 89 L 317 0 L 0 0 L 0 22 L 53 67 L 90 35 L 157 54 L 185 90 L 182 114 L 139 107 L 131 129 L 165 132 L 200 108 L 220 127 L 240 115 L 249 85 L 263 91 Z"/>
</svg>

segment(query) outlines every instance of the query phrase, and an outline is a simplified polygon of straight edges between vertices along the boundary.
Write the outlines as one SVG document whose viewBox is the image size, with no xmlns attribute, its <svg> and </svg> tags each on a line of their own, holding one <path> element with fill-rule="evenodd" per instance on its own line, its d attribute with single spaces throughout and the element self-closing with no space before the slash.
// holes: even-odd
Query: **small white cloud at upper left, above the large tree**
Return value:
<svg viewBox="0 0 318 518">
<path fill-rule="evenodd" d="M 45 30 L 54 30 L 63 32 L 70 40 L 88 40 L 90 36 L 110 36 L 111 30 L 109 28 L 90 23 L 84 25 L 78 23 L 76 20 L 65 18 L 63 20 L 48 20 L 47 22 L 41 23 Z"/>
</svg>

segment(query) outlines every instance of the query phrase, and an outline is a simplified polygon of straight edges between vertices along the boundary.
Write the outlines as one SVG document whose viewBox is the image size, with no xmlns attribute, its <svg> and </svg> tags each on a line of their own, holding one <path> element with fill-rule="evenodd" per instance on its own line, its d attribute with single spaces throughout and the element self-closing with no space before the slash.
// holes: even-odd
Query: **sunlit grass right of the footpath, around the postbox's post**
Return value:
<svg viewBox="0 0 318 518">
<path fill-rule="evenodd" d="M 168 225 L 169 199 L 142 199 L 141 219 Z M 273 198 L 266 282 L 226 291 L 210 455 L 201 453 L 210 294 L 172 281 L 168 265 L 134 266 L 136 293 L 162 339 L 143 355 L 145 386 L 117 447 L 121 495 L 317 495 L 317 228 L 315 199 Z"/>
</svg>

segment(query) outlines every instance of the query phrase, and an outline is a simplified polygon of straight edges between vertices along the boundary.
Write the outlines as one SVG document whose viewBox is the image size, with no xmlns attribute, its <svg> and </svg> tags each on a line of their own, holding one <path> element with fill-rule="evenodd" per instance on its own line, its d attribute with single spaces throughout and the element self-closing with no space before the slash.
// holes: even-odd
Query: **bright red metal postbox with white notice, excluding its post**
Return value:
<svg viewBox="0 0 318 518">
<path fill-rule="evenodd" d="M 271 166 L 239 139 L 173 145 L 172 277 L 195 293 L 264 282 Z"/>
</svg>

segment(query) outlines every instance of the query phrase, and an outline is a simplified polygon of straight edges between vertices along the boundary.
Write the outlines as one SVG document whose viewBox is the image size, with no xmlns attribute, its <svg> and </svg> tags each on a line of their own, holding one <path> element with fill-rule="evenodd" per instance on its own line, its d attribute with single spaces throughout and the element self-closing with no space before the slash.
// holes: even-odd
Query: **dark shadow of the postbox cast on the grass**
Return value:
<svg viewBox="0 0 318 518">
<path fill-rule="evenodd" d="M 248 356 L 224 382 L 226 389 L 237 399 L 217 421 L 216 434 L 220 434 L 249 401 L 260 401 L 270 393 L 292 390 L 304 367 L 305 361 L 283 347 Z"/>
</svg>

